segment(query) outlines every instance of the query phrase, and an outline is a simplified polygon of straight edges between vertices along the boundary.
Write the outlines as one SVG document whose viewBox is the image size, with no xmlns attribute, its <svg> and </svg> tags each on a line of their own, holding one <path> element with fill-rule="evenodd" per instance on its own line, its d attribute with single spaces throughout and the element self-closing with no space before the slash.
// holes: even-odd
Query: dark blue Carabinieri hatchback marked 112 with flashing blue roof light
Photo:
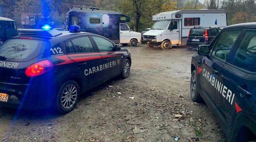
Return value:
<svg viewBox="0 0 256 142">
<path fill-rule="evenodd" d="M 130 52 L 79 26 L 18 33 L 0 46 L 0 105 L 67 113 L 85 91 L 129 76 Z"/>
</svg>

